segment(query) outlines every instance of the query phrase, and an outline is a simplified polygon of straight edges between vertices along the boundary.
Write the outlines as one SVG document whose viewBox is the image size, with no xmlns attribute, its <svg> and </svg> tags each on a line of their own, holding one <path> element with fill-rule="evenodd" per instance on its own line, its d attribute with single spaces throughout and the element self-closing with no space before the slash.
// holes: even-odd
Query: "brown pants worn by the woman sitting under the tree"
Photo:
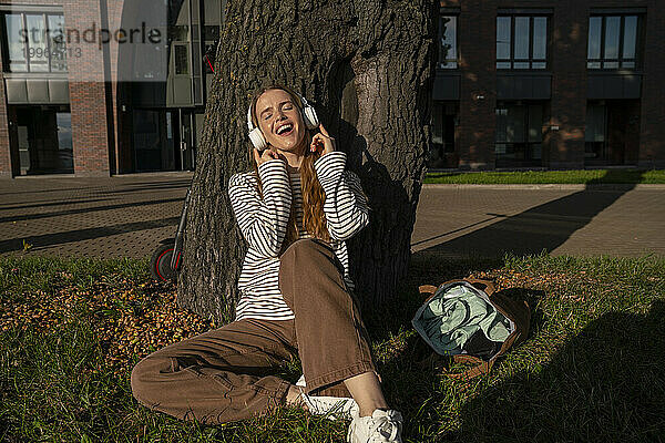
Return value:
<svg viewBox="0 0 665 443">
<path fill-rule="evenodd" d="M 162 348 L 132 370 L 134 398 L 182 420 L 224 423 L 285 404 L 272 374 L 298 354 L 314 395 L 350 396 L 344 380 L 376 371 L 357 300 L 332 248 L 299 239 L 279 257 L 279 290 L 295 320 L 243 319 Z"/>
</svg>

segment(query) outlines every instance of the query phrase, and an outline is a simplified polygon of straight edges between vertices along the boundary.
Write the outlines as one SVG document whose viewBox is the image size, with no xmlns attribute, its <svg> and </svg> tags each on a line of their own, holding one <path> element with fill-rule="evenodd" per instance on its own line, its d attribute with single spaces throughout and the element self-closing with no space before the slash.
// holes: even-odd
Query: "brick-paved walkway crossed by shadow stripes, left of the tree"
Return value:
<svg viewBox="0 0 665 443">
<path fill-rule="evenodd" d="M 192 172 L 0 181 L 0 254 L 152 255 L 173 237 Z"/>
</svg>

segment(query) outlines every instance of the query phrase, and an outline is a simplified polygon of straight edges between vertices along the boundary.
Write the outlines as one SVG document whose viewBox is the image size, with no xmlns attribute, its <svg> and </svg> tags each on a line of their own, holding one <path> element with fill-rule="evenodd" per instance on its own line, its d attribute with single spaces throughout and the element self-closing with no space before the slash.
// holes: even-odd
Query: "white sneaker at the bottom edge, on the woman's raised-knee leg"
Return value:
<svg viewBox="0 0 665 443">
<path fill-rule="evenodd" d="M 375 410 L 371 416 L 354 415 L 347 433 L 347 443 L 401 443 L 401 413 Z"/>
</svg>

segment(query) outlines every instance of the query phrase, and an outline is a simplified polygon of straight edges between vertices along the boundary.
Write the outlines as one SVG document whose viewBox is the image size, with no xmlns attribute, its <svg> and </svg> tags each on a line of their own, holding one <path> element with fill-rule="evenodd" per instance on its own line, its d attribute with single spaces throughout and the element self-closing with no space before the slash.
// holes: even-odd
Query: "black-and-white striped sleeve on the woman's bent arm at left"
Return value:
<svg viewBox="0 0 665 443">
<path fill-rule="evenodd" d="M 258 166 L 264 198 L 244 174 L 228 181 L 228 196 L 243 236 L 264 257 L 278 257 L 290 214 L 291 190 L 286 163 L 275 158 Z"/>
</svg>

